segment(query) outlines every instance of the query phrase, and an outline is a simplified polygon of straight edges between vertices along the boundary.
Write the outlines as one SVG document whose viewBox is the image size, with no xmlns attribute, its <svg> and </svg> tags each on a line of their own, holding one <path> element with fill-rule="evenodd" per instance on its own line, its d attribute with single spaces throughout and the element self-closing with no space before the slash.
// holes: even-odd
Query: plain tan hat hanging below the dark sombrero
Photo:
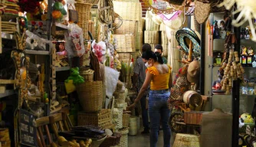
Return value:
<svg viewBox="0 0 256 147">
<path fill-rule="evenodd" d="M 200 64 L 198 60 L 192 61 L 188 67 L 187 79 L 190 83 L 197 83 L 200 76 Z"/>
</svg>

